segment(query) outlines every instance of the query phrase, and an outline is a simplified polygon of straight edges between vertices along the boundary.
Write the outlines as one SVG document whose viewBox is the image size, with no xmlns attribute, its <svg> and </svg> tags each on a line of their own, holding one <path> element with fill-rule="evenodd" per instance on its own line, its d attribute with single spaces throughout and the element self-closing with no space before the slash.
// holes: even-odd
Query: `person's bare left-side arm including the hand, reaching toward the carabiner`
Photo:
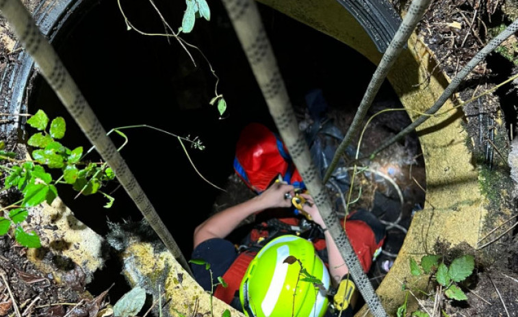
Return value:
<svg viewBox="0 0 518 317">
<path fill-rule="evenodd" d="M 261 195 L 214 214 L 194 229 L 194 248 L 211 238 L 225 238 L 251 214 L 268 208 L 291 206 L 292 201 L 285 199 L 285 194 L 293 194 L 293 189 L 292 185 L 274 183 Z"/>
</svg>

